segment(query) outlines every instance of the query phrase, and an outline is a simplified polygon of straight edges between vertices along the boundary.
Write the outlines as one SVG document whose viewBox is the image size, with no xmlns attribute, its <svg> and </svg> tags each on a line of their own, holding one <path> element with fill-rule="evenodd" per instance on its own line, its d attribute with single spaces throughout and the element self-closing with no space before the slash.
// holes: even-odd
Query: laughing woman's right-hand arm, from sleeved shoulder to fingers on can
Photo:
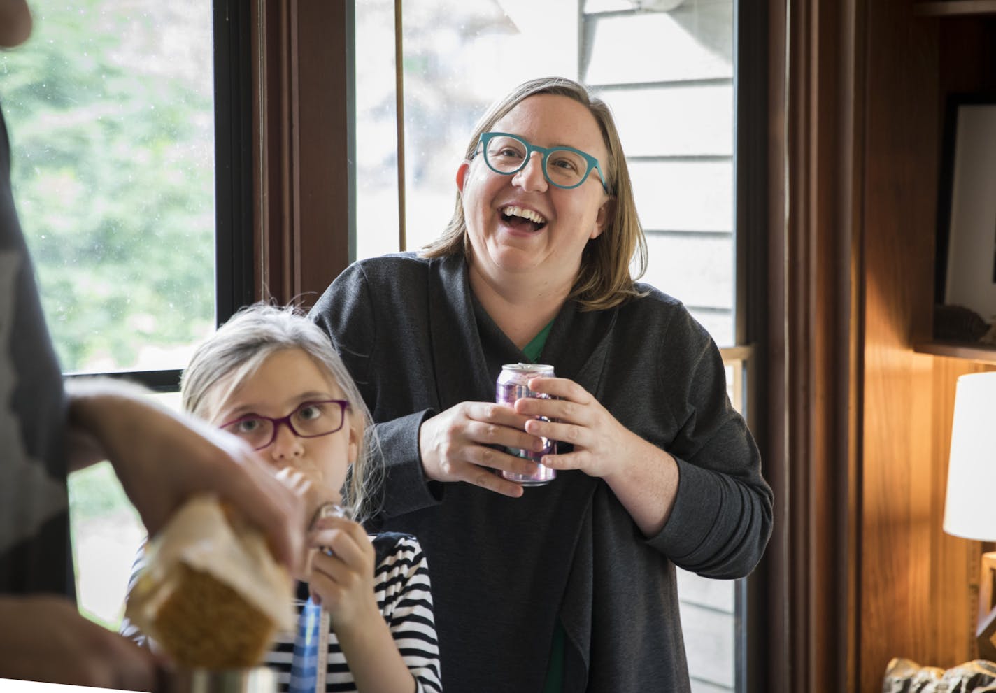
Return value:
<svg viewBox="0 0 996 693">
<path fill-rule="evenodd" d="M 534 378 L 533 389 L 561 399 L 520 399 L 516 409 L 556 419 L 526 424 L 534 435 L 574 446 L 544 463 L 603 478 L 649 546 L 699 575 L 740 578 L 771 535 L 771 489 L 757 445 L 726 396 L 718 350 L 687 314 L 674 322 L 666 353 L 652 361 L 657 379 L 632 395 L 646 402 L 647 421 L 674 419 L 667 450 L 628 430 L 567 378 Z M 657 393 L 665 399 L 653 401 Z"/>
</svg>

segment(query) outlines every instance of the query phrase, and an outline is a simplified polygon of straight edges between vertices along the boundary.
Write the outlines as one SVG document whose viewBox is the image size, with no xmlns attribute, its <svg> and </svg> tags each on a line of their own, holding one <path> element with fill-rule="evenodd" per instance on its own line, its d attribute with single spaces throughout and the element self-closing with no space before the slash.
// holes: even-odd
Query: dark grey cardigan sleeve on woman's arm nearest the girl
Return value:
<svg viewBox="0 0 996 693">
<path fill-rule="evenodd" d="M 389 320 L 390 316 L 383 315 L 386 311 L 373 299 L 363 266 L 354 263 L 326 289 L 309 315 L 332 338 L 376 422 L 371 449 L 372 454 L 379 451 L 385 471 L 379 507 L 383 515 L 392 517 L 439 502 L 437 494 L 441 489 L 425 478 L 418 451 L 418 430 L 422 421 L 435 412 L 414 411 L 380 420 L 377 387 L 381 379 L 389 378 L 378 372 L 384 366 L 377 361 L 376 345 L 378 339 L 386 339 L 379 335 L 379 321 Z"/>
</svg>

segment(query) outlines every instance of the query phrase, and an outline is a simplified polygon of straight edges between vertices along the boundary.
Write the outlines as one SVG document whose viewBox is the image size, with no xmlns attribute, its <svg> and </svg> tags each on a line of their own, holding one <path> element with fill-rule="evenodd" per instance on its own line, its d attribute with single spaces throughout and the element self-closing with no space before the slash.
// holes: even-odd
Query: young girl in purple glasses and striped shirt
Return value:
<svg viewBox="0 0 996 693">
<path fill-rule="evenodd" d="M 314 551 L 298 585 L 297 641 L 282 635 L 266 658 L 281 690 L 439 691 L 421 548 L 407 535 L 369 537 L 358 522 L 379 473 L 370 413 L 328 336 L 292 309 L 257 304 L 197 348 L 180 390 L 185 410 L 241 437 L 288 483 L 310 482 Z M 140 569 L 139 554 L 131 582 Z M 127 621 L 122 632 L 145 640 Z M 316 635 L 317 647 L 306 642 Z M 308 649 L 313 677 L 301 671 Z"/>
</svg>

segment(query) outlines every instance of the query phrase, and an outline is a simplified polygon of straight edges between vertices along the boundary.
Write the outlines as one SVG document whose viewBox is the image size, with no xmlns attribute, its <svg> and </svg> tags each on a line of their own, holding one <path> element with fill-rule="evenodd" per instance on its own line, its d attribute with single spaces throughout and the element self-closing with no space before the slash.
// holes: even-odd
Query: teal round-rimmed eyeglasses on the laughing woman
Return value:
<svg viewBox="0 0 996 693">
<path fill-rule="evenodd" d="M 484 148 L 484 162 L 495 173 L 511 175 L 526 167 L 534 151 L 543 154 L 543 176 L 552 185 L 570 190 L 588 179 L 594 168 L 599 172 L 602 189 L 606 194 L 606 175 L 599 166 L 599 159 L 573 146 L 546 148 L 530 144 L 517 134 L 508 132 L 482 132 L 480 143 Z M 476 150 L 474 152 L 477 153 Z"/>
</svg>

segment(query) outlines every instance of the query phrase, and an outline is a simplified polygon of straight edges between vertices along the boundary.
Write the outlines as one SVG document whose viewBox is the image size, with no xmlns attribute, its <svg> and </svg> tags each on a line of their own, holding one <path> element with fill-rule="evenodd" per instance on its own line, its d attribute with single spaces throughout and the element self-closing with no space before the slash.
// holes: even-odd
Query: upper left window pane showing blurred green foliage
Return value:
<svg viewBox="0 0 996 693">
<path fill-rule="evenodd" d="M 0 100 L 63 369 L 182 366 L 214 325 L 211 4 L 31 9 Z"/>
</svg>

